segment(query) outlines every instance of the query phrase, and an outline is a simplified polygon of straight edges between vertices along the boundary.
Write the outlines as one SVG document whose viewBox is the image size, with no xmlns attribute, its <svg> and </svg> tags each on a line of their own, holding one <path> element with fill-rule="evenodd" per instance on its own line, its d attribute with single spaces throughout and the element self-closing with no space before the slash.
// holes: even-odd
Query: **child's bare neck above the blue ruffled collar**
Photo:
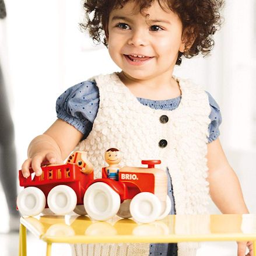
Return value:
<svg viewBox="0 0 256 256">
<path fill-rule="evenodd" d="M 167 100 L 181 96 L 180 86 L 172 77 L 164 80 L 138 80 L 129 78 L 124 72 L 117 73 L 121 81 L 136 97 L 150 100 Z"/>
</svg>

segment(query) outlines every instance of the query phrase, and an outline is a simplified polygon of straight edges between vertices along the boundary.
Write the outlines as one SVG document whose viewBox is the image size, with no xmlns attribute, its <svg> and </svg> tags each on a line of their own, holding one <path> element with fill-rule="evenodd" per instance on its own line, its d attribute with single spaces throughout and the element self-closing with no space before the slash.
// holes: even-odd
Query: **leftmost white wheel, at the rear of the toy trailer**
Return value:
<svg viewBox="0 0 256 256">
<path fill-rule="evenodd" d="M 45 208 L 43 191 L 36 187 L 27 187 L 17 196 L 17 207 L 22 216 L 38 215 Z"/>
</svg>

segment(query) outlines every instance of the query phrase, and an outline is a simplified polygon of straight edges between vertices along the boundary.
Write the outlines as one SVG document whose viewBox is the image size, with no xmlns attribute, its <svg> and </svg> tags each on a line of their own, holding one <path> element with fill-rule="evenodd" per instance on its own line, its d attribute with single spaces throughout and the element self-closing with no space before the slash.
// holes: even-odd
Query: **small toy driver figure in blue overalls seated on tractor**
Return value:
<svg viewBox="0 0 256 256">
<path fill-rule="evenodd" d="M 118 180 L 118 173 L 121 168 L 118 163 L 121 161 L 121 152 L 118 149 L 110 148 L 105 152 L 105 160 L 109 164 L 108 167 L 105 167 L 107 177 L 111 180 Z"/>
</svg>

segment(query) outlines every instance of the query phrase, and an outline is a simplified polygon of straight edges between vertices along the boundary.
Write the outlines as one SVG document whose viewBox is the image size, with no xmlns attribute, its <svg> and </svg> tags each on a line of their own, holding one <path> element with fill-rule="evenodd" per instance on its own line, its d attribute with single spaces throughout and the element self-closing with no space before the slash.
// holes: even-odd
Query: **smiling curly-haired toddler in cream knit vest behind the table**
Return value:
<svg viewBox="0 0 256 256">
<path fill-rule="evenodd" d="M 239 181 L 219 141 L 222 121 L 212 96 L 173 75 L 181 57 L 207 55 L 220 27 L 223 0 L 87 0 L 82 29 L 108 48 L 121 72 L 96 75 L 57 99 L 57 121 L 31 141 L 31 166 L 62 163 L 78 146 L 101 177 L 104 152 L 122 152 L 120 166 L 161 159 L 168 176 L 170 214 L 206 214 L 209 196 L 222 213 L 248 213 Z M 101 38 L 104 32 L 104 38 Z M 100 61 L 100 60 L 99 60 Z M 229 183 L 226 183 L 226 181 Z M 146 181 L 145 181 L 146 182 Z M 253 255 L 251 242 L 237 255 Z M 78 244 L 74 255 L 196 255 L 197 243 Z"/>
</svg>

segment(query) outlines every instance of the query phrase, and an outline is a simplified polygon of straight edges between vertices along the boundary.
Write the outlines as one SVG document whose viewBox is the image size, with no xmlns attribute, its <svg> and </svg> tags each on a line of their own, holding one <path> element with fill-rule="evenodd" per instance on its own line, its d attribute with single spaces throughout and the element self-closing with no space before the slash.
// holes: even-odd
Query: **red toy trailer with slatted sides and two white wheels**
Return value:
<svg viewBox="0 0 256 256">
<path fill-rule="evenodd" d="M 83 166 L 85 165 L 83 162 Z M 93 169 L 90 164 L 88 165 L 90 168 L 87 169 L 75 163 L 45 166 L 42 167 L 41 176 L 34 176 L 33 170 L 30 169 L 28 178 L 24 178 L 20 170 L 19 181 L 24 190 L 17 197 L 17 208 L 22 215 L 27 216 L 38 215 L 45 208 L 49 208 L 55 214 L 72 211 L 81 215 L 86 214 L 83 196 L 86 184 L 93 180 Z"/>
</svg>

